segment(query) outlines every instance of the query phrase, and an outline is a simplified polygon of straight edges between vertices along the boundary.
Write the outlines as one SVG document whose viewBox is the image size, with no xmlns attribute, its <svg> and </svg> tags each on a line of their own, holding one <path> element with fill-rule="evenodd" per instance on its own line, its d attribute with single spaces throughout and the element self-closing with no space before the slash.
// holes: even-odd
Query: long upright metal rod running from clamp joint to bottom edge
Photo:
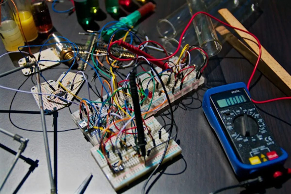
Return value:
<svg viewBox="0 0 291 194">
<path fill-rule="evenodd" d="M 39 75 L 40 69 L 38 66 L 35 67 L 35 73 L 36 73 L 36 86 L 38 89 L 38 92 L 41 93 L 41 87 L 40 87 L 40 75 Z M 43 140 L 45 143 L 45 153 L 47 157 L 47 168 L 49 170 L 49 180 L 51 184 L 51 193 L 56 193 L 56 187 L 54 185 L 54 179 L 52 174 L 52 163 L 51 158 L 49 154 L 49 142 L 47 139 L 47 126 L 45 124 L 45 112 L 43 111 L 43 103 L 42 103 L 42 95 L 38 94 L 38 101 L 39 101 L 39 107 L 40 107 L 40 116 L 41 116 L 41 124 L 42 124 L 42 132 L 43 132 Z"/>
</svg>

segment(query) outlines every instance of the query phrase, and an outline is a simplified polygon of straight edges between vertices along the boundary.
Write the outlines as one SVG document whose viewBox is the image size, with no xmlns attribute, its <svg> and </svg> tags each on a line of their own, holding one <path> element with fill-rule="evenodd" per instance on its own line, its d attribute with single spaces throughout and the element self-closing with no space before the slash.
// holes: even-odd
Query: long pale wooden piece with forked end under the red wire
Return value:
<svg viewBox="0 0 291 194">
<path fill-rule="evenodd" d="M 247 29 L 230 13 L 226 8 L 220 9 L 218 13 L 228 22 L 230 25 L 237 28 L 246 30 Z M 219 26 L 216 28 L 218 33 L 223 36 L 228 43 L 230 43 L 238 52 L 240 52 L 246 59 L 248 59 L 252 64 L 258 59 L 258 45 L 257 41 L 253 36 L 244 33 L 239 30 L 235 30 L 240 37 L 251 47 L 247 47 L 242 41 L 236 38 L 230 31 L 225 27 Z M 272 57 L 271 54 L 262 47 L 262 56 L 261 61 L 258 65 L 258 69 L 281 91 L 284 92 L 287 96 L 291 96 L 291 76 L 290 74 Z"/>
</svg>

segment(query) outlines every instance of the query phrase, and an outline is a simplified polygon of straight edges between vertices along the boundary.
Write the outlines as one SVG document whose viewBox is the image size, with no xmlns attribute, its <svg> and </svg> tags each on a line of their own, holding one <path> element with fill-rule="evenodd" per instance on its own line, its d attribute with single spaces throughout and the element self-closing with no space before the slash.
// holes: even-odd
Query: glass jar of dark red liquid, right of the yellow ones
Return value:
<svg viewBox="0 0 291 194">
<path fill-rule="evenodd" d="M 49 8 L 45 0 L 32 0 L 31 12 L 39 33 L 47 33 L 53 28 Z"/>
</svg>

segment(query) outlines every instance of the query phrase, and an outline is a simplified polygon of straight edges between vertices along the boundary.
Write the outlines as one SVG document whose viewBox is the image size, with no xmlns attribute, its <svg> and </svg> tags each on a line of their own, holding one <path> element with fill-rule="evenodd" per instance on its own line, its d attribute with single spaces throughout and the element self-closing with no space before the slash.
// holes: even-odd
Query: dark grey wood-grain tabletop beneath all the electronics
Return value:
<svg viewBox="0 0 291 194">
<path fill-rule="evenodd" d="M 173 12 L 175 8 L 183 3 L 184 1 L 157 1 L 156 12 L 141 23 L 140 28 L 148 34 L 150 39 L 158 40 L 155 30 L 156 21 Z M 51 4 L 49 3 L 49 5 Z M 70 6 L 69 3 L 64 5 Z M 105 10 L 103 1 L 100 1 L 100 6 L 102 10 Z M 60 9 L 61 8 L 62 6 L 60 6 Z M 263 1 L 261 8 L 263 10 L 262 15 L 253 26 L 249 28 L 249 31 L 257 35 L 262 45 L 289 73 L 291 73 L 291 3 L 288 0 L 266 0 Z M 65 18 L 63 14 L 56 14 L 53 13 L 52 10 L 50 11 L 54 27 L 71 41 L 80 42 L 80 36 L 77 35 L 77 33 L 83 30 L 77 23 L 76 15 L 73 14 Z M 102 26 L 110 21 L 110 19 L 111 17 L 108 16 L 106 20 L 98 22 L 98 24 Z M 6 51 L 2 43 L 0 44 L 0 53 L 2 54 Z M 226 52 L 227 47 L 229 48 L 229 45 L 224 44 L 222 52 Z M 234 49 L 229 50 L 230 51 L 227 51 L 223 56 L 225 58 L 211 60 L 205 72 L 207 82 L 212 87 L 223 83 L 238 81 L 247 82 L 251 74 L 253 66 L 245 59 L 242 59 Z M 14 66 L 9 56 L 1 58 L 0 72 L 13 68 Z M 43 75 L 47 79 L 56 80 L 61 72 L 65 71 L 65 68 L 67 68 L 67 66 L 61 64 L 56 68 L 44 71 Z M 87 68 L 86 73 L 91 77 L 93 71 Z M 35 79 L 35 77 L 33 77 L 33 79 Z M 17 72 L 1 78 L 0 84 L 11 88 L 18 88 L 24 80 L 26 80 L 26 77 L 24 77 L 21 72 Z M 255 74 L 254 80 L 258 80 L 258 82 L 251 89 L 253 98 L 264 100 L 284 96 L 284 94 L 276 89 L 276 87 L 264 76 L 260 77 L 259 72 Z M 30 91 L 31 87 L 33 87 L 33 83 L 29 78 L 21 89 Z M 15 92 L 9 90 L 0 90 L 0 110 L 9 110 L 14 93 Z M 200 100 L 202 99 L 203 93 L 204 91 L 200 89 L 193 95 L 195 98 L 198 95 L 199 100 L 193 100 L 192 104 L 186 108 L 180 105 L 174 113 L 175 121 L 180 129 L 178 139 L 183 149 L 183 159 L 179 159 L 175 163 L 169 165 L 165 173 L 182 173 L 177 175 L 163 174 L 150 190 L 152 193 L 210 193 L 218 188 L 237 184 L 237 179 L 214 133 L 210 129 L 202 109 L 195 109 L 195 107 L 201 105 Z M 86 87 L 82 87 L 79 94 L 86 97 Z M 189 103 L 190 100 L 191 99 L 183 100 L 182 103 Z M 262 109 L 261 114 L 270 130 L 272 130 L 278 144 L 291 155 L 291 127 L 290 124 L 288 124 L 290 122 L 291 101 L 273 102 L 258 105 L 258 107 Z M 70 108 L 72 111 L 78 109 L 76 105 L 71 105 Z M 12 110 L 38 111 L 38 106 L 31 94 L 17 93 L 12 104 Z M 53 130 L 52 119 L 52 116 L 46 116 L 47 129 L 50 131 Z M 161 121 L 160 118 L 158 119 Z M 11 120 L 19 128 L 41 130 L 39 114 L 12 113 Z M 28 138 L 29 143 L 23 155 L 33 160 L 39 160 L 39 166 L 26 179 L 19 193 L 49 193 L 50 185 L 42 133 L 16 128 L 9 121 L 8 113 L 3 113 L 3 111 L 0 113 L 0 127 Z M 58 130 L 62 131 L 75 128 L 76 125 L 71 119 L 68 108 L 60 110 Z M 49 133 L 48 137 L 53 161 L 53 133 Z M 17 142 L 3 134 L 0 134 L 0 140 L 2 144 L 14 150 L 17 150 L 19 146 Z M 76 129 L 67 132 L 59 132 L 57 142 L 58 193 L 73 193 L 90 172 L 93 173 L 93 179 L 86 193 L 114 193 L 114 190 L 91 156 L 89 150 L 92 146 L 89 142 L 86 142 L 81 131 Z M 13 156 L 11 154 L 0 149 L 1 179 L 4 173 L 6 173 L 12 159 Z M 285 167 L 291 167 L 290 157 L 286 161 Z M 2 193 L 12 193 L 28 170 L 29 165 L 19 160 L 7 184 L 3 188 Z M 143 183 L 144 179 L 127 188 L 125 193 L 140 193 Z M 242 189 L 238 188 L 226 193 L 239 193 L 240 191 L 242 191 Z M 290 193 L 291 180 L 285 182 L 281 188 L 267 188 L 265 192 Z M 264 190 L 262 193 L 264 193 Z"/>
</svg>

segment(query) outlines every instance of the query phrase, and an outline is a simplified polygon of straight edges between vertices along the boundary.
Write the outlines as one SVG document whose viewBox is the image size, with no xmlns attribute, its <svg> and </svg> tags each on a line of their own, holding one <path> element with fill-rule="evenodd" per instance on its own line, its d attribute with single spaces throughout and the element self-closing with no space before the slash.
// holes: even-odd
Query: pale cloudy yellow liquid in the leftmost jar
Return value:
<svg viewBox="0 0 291 194">
<path fill-rule="evenodd" d="M 7 51 L 17 51 L 18 47 L 24 46 L 20 30 L 14 20 L 3 21 L 0 27 L 0 33 Z"/>
</svg>

